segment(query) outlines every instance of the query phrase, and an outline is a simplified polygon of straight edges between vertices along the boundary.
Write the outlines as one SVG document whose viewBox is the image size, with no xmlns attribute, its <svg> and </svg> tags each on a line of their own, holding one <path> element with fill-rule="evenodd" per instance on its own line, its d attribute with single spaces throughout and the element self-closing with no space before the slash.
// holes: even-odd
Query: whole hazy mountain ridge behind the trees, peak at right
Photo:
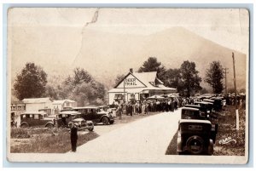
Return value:
<svg viewBox="0 0 256 171">
<path fill-rule="evenodd" d="M 154 56 L 166 68 L 178 68 L 184 60 L 194 61 L 202 78 L 209 64 L 219 60 L 229 68 L 227 78 L 231 88 L 234 52 L 237 88 L 246 85 L 246 54 L 213 43 L 183 27 L 148 36 L 95 31 L 90 27 L 81 33 L 72 26 L 14 26 L 9 33 L 13 37 L 9 41 L 12 83 L 26 62 L 35 62 L 50 79 L 57 79 L 54 76 L 58 75 L 67 77 L 73 68 L 80 66 L 107 88 L 113 88 L 118 74 L 126 74 L 130 68 L 137 71 L 148 57 Z M 202 86 L 207 83 L 202 82 Z"/>
</svg>

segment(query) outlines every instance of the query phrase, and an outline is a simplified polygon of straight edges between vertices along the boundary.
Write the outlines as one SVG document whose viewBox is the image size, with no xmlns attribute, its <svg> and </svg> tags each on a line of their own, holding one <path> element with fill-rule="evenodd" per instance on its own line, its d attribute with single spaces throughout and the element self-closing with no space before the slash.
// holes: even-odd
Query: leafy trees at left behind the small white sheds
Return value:
<svg viewBox="0 0 256 171">
<path fill-rule="evenodd" d="M 53 100 L 75 100 L 79 106 L 99 105 L 105 103 L 106 88 L 83 68 L 75 68 L 73 75 L 67 76 L 63 82 L 50 85 L 40 66 L 26 63 L 16 76 L 14 94 L 18 100 L 50 97 Z"/>
</svg>

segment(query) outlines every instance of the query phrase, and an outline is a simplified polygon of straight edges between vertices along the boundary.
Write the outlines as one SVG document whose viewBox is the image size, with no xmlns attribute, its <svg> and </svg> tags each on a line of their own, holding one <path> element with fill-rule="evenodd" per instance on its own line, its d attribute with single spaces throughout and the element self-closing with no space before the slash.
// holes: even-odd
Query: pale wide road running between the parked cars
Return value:
<svg viewBox="0 0 256 171">
<path fill-rule="evenodd" d="M 179 118 L 179 111 L 145 117 L 102 134 L 67 155 L 71 156 L 69 159 L 76 158 L 76 162 L 146 162 L 150 157 L 155 160 L 165 155 Z"/>
</svg>

